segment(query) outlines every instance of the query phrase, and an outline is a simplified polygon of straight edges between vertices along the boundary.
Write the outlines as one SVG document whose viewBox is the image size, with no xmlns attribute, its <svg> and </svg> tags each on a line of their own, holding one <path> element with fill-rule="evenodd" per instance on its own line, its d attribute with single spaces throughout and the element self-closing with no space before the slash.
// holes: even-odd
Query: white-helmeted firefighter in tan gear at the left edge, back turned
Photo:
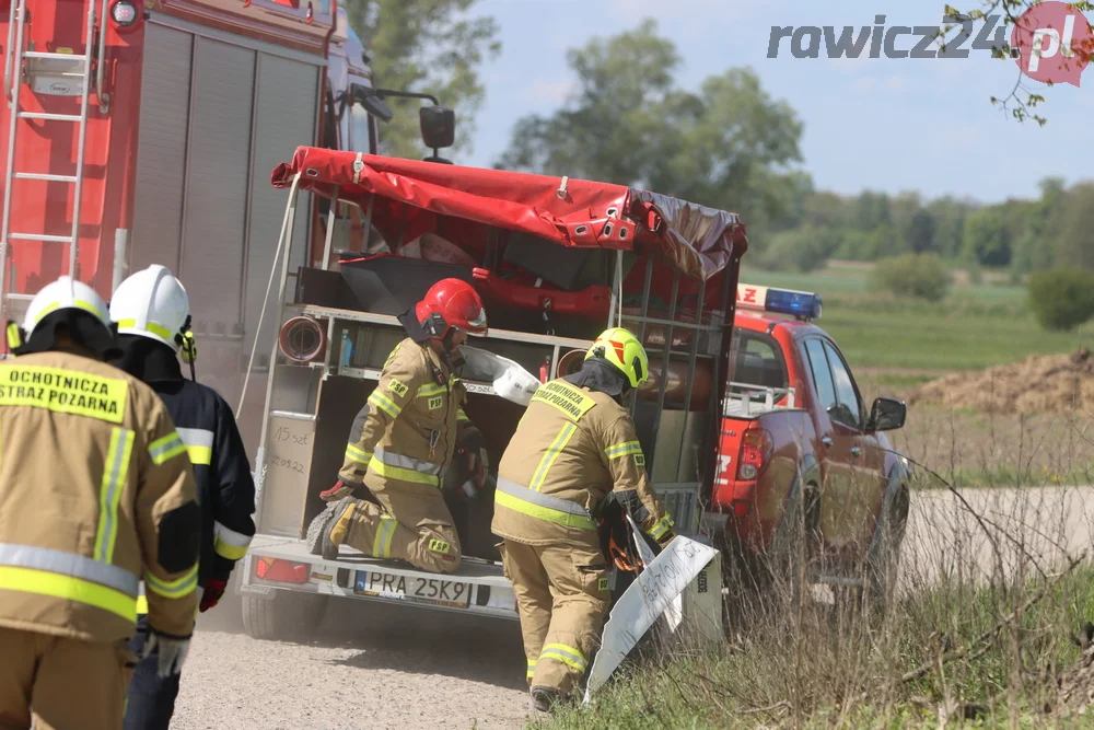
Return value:
<svg viewBox="0 0 1094 730">
<path fill-rule="evenodd" d="M 201 512 L 186 447 L 70 277 L 8 323 L 0 361 L 0 727 L 116 730 L 143 579 L 160 671 L 197 613 Z"/>
</svg>

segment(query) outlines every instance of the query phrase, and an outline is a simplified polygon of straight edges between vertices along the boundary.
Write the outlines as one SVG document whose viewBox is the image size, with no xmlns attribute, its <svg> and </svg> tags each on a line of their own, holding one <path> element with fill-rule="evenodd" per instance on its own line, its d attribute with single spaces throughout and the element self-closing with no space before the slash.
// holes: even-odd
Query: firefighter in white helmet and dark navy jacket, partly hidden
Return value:
<svg viewBox="0 0 1094 730">
<path fill-rule="evenodd" d="M 159 394 L 176 429 L 197 480 L 201 505 L 200 611 L 217 605 L 232 569 L 255 534 L 255 485 L 243 439 L 231 407 L 211 387 L 183 376 L 182 356 L 190 363 L 190 304 L 186 288 L 164 266 L 150 266 L 121 282 L 110 299 L 121 356 L 114 363 Z M 148 640 L 147 619 L 138 622 L 131 648 Z M 125 728 L 166 729 L 178 695 L 179 676 L 155 672 L 154 653 L 142 659 L 129 687 Z"/>
</svg>

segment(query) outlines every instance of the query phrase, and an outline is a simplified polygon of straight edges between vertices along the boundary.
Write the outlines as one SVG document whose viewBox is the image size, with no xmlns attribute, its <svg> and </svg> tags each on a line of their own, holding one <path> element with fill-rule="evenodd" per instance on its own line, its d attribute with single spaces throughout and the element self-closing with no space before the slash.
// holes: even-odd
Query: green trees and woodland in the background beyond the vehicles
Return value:
<svg viewBox="0 0 1094 730">
<path fill-rule="evenodd" d="M 379 85 L 431 92 L 457 109 L 457 161 L 485 97 L 479 69 L 501 47 L 494 21 L 469 14 L 475 5 L 345 3 Z M 496 167 L 644 187 L 740 212 L 753 266 L 811 271 L 829 258 L 875 262 L 880 286 L 924 299 L 945 296 L 950 269 L 1003 269 L 1015 281 L 1037 275 L 1031 304 L 1046 326 L 1094 314 L 1094 293 L 1063 315 L 1044 314 L 1058 304 L 1033 301 L 1038 291 L 1082 289 L 1082 271 L 1094 271 L 1094 183 L 1067 187 L 1049 177 L 1036 198 L 997 205 L 916 192 L 841 196 L 816 189 L 800 149 L 804 123 L 753 69 L 725 69 L 685 89 L 679 50 L 653 20 L 571 48 L 566 63 L 577 80 L 569 97 L 552 114 L 520 118 Z M 418 102 L 389 103 L 396 117 L 381 129 L 381 152 L 422 157 Z M 1094 292 L 1094 274 L 1089 283 Z"/>
</svg>

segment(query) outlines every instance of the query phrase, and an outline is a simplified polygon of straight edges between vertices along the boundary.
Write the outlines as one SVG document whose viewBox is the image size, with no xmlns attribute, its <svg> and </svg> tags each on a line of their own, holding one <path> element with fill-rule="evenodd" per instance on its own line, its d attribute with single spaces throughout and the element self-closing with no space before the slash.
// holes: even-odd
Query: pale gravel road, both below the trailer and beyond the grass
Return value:
<svg viewBox="0 0 1094 730">
<path fill-rule="evenodd" d="M 1094 489 L 964 496 L 1004 568 L 1019 552 L 1047 567 L 1092 544 Z M 941 572 L 990 572 L 991 545 L 952 494 L 917 493 L 901 582 L 916 590 Z M 201 616 L 173 728 L 520 728 L 532 714 L 515 622 L 334 600 L 315 639 L 294 644 L 253 640 L 240 616 L 237 596 Z"/>
</svg>

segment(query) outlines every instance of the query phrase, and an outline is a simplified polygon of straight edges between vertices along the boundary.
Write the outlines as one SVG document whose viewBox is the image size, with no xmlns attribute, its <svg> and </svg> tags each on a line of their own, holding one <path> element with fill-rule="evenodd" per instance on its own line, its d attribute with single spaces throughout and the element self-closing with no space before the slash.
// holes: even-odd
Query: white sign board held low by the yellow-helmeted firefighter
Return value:
<svg viewBox="0 0 1094 730">
<path fill-rule="evenodd" d="M 680 593 L 715 555 L 718 551 L 713 547 L 677 535 L 661 555 L 638 573 L 638 578 L 616 603 L 604 625 L 601 649 L 589 671 L 585 703 L 593 692 L 607 682 L 642 635 L 666 609 L 679 600 Z M 677 625 L 678 623 L 676 619 Z"/>
</svg>

